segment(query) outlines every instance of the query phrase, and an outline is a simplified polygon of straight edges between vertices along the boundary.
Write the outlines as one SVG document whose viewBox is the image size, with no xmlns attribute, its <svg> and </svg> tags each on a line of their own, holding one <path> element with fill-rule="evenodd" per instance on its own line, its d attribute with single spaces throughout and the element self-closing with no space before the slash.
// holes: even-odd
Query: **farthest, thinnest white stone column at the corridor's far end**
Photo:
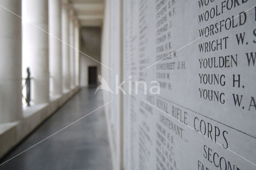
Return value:
<svg viewBox="0 0 256 170">
<path fill-rule="evenodd" d="M 76 68 L 76 77 L 75 77 L 75 85 L 79 86 L 79 23 L 78 20 L 75 22 L 75 68 Z"/>
</svg>

